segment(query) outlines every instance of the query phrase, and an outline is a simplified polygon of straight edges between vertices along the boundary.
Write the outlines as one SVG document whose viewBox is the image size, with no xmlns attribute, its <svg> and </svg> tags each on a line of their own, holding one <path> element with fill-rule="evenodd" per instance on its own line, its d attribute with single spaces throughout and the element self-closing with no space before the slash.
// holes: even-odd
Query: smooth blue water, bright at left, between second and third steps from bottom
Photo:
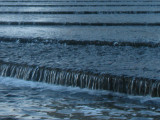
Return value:
<svg viewBox="0 0 160 120">
<path fill-rule="evenodd" d="M 51 39 L 53 42 L 55 40 L 76 40 L 159 43 L 159 34 L 158 26 L 0 26 L 1 37 L 17 38 L 17 40 L 18 38 Z"/>
</svg>

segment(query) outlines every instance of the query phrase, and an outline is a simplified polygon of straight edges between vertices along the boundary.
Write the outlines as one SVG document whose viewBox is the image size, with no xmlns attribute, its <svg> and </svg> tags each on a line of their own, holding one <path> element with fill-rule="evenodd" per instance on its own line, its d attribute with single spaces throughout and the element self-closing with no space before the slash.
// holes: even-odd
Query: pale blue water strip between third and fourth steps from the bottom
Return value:
<svg viewBox="0 0 160 120">
<path fill-rule="evenodd" d="M 0 15 L 0 21 L 6 21 L 6 22 L 30 22 L 32 21 L 33 24 L 34 22 L 61 22 L 61 23 L 68 23 L 68 22 L 73 22 L 73 23 L 131 23 L 131 22 L 147 22 L 151 23 L 151 22 L 159 22 L 160 19 L 160 14 L 141 14 L 141 15 L 137 15 L 136 11 L 135 13 L 133 12 L 133 14 L 120 14 L 120 13 L 116 13 L 113 11 L 114 14 L 105 14 L 104 16 L 102 16 L 101 14 L 103 14 L 103 11 L 101 13 L 100 12 L 95 12 L 95 11 L 84 11 L 84 12 L 74 12 L 74 11 L 60 11 L 54 14 L 54 12 L 41 12 L 41 11 L 37 11 L 37 12 L 14 12 L 14 11 L 9 11 L 8 12 L 2 12 L 2 14 Z M 68 15 L 66 15 L 68 13 Z M 96 15 L 95 15 L 95 14 Z M 20 14 L 20 15 L 19 15 Z M 63 15 L 64 14 L 64 15 Z M 77 16 L 77 14 L 79 14 Z M 140 18 L 140 16 L 142 18 Z M 96 17 L 96 19 L 94 19 L 94 17 Z M 119 19 L 117 19 L 117 17 Z M 154 19 L 152 19 L 154 17 Z M 114 21 L 113 21 L 114 20 Z"/>
</svg>

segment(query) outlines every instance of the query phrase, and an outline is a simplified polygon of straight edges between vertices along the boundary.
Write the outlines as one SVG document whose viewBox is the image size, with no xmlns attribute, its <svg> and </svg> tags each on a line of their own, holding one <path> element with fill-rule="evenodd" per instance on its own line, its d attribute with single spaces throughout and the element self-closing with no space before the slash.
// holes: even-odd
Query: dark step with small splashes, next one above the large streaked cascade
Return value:
<svg viewBox="0 0 160 120">
<path fill-rule="evenodd" d="M 44 38 L 10 38 L 0 37 L 0 42 L 14 43 L 44 43 L 44 44 L 66 44 L 66 45 L 96 45 L 96 46 L 132 46 L 132 47 L 160 47 L 160 43 L 152 42 L 116 42 L 116 41 L 100 41 L 100 40 L 60 40 L 60 39 L 44 39 Z"/>
</svg>

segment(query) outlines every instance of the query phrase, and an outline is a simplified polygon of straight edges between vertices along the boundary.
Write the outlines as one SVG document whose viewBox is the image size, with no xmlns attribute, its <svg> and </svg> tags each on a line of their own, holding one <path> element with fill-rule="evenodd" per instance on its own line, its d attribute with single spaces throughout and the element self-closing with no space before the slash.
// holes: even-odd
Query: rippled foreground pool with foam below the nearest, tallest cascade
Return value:
<svg viewBox="0 0 160 120">
<path fill-rule="evenodd" d="M 21 120 L 153 120 L 159 98 L 48 85 L 0 77 L 0 118 Z"/>
</svg>

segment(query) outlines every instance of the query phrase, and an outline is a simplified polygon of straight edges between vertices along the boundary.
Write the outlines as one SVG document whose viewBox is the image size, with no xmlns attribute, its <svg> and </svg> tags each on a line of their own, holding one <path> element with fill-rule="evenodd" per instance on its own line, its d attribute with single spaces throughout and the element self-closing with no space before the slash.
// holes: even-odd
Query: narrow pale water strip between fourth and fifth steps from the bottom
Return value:
<svg viewBox="0 0 160 120">
<path fill-rule="evenodd" d="M 1 11 L 159 11 L 159 7 L 137 7 L 137 6 L 129 6 L 125 7 L 1 7 Z"/>
</svg>

